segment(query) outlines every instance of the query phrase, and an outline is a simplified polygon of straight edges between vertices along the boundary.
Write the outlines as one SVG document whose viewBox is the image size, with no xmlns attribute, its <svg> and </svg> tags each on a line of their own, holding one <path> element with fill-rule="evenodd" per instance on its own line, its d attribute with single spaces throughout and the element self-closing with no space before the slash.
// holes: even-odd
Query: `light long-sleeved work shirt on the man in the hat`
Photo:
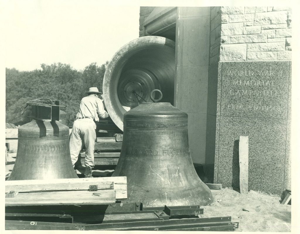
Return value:
<svg viewBox="0 0 300 234">
<path fill-rule="evenodd" d="M 106 111 L 104 110 L 102 100 L 94 95 L 88 95 L 81 99 L 79 112 L 76 117 L 91 117 L 98 122 L 99 117 L 105 113 Z"/>
</svg>

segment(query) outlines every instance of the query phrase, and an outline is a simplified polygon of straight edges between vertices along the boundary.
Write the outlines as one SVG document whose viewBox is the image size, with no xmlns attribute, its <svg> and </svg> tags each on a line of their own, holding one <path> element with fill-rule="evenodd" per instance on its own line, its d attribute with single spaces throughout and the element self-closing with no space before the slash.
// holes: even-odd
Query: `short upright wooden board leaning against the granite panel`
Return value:
<svg viewBox="0 0 300 234">
<path fill-rule="evenodd" d="M 240 136 L 238 145 L 238 158 L 240 165 L 240 192 L 241 194 L 248 193 L 248 149 L 249 137 Z"/>
</svg>

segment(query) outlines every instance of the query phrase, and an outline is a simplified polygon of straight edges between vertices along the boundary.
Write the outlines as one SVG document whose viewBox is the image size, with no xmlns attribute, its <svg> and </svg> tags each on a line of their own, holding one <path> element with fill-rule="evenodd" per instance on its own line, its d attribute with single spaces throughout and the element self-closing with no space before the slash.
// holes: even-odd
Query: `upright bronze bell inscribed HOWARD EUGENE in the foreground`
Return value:
<svg viewBox="0 0 300 234">
<path fill-rule="evenodd" d="M 213 201 L 193 166 L 187 122 L 187 113 L 164 102 L 142 103 L 124 114 L 122 150 L 113 176 L 127 176 L 128 200 L 143 207 Z"/>
</svg>

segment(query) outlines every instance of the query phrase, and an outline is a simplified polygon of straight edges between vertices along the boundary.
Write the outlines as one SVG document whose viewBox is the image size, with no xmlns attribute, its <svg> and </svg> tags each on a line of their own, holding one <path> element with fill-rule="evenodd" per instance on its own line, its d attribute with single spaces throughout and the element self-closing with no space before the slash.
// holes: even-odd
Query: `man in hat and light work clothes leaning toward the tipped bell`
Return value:
<svg viewBox="0 0 300 234">
<path fill-rule="evenodd" d="M 92 168 L 95 166 L 95 122 L 98 122 L 99 118 L 107 118 L 108 113 L 104 110 L 103 100 L 98 98 L 98 95 L 102 94 L 98 88 L 91 87 L 86 93 L 88 96 L 81 99 L 79 112 L 76 114 L 70 135 L 70 155 L 74 167 L 82 146 L 85 145 L 84 177 L 92 177 Z"/>
</svg>

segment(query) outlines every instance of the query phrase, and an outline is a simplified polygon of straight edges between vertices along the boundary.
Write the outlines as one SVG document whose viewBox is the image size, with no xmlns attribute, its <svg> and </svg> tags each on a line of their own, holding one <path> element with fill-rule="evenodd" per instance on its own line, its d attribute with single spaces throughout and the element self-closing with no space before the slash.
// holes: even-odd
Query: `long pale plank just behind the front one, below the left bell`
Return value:
<svg viewBox="0 0 300 234">
<path fill-rule="evenodd" d="M 42 188 L 45 188 L 44 186 L 47 183 L 48 188 L 53 188 L 57 186 L 57 184 L 67 184 L 67 183 L 73 183 L 74 186 L 76 186 L 77 183 L 86 183 L 89 185 L 94 184 L 104 184 L 104 183 L 114 183 L 114 189 L 116 191 L 116 199 L 123 199 L 127 198 L 127 177 L 126 176 L 114 176 L 114 177 L 98 177 L 98 178 L 72 178 L 72 179 L 52 179 L 52 180 L 6 180 L 4 182 L 5 184 L 5 191 L 19 191 L 18 188 L 21 186 L 28 187 L 30 190 L 30 187 L 36 186 L 38 190 L 41 190 Z M 40 187 L 37 187 L 37 186 Z M 18 195 L 19 196 L 19 195 Z"/>
</svg>

